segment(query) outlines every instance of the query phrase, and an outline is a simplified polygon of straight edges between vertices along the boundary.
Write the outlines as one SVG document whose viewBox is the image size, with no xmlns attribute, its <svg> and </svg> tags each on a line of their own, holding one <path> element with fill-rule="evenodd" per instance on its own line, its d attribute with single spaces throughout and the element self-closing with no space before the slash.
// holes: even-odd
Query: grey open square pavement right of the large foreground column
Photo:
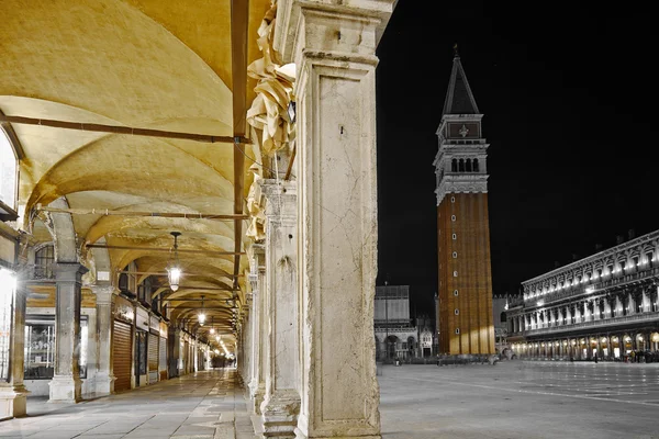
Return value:
<svg viewBox="0 0 659 439">
<path fill-rule="evenodd" d="M 659 363 L 383 367 L 382 439 L 659 439 Z"/>
</svg>

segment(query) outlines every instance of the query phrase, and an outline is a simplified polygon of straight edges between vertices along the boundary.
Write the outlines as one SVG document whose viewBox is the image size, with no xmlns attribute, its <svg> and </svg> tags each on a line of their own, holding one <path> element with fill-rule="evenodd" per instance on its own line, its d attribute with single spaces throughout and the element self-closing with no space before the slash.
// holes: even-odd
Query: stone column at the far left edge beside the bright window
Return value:
<svg viewBox="0 0 659 439">
<path fill-rule="evenodd" d="M 5 285 L 3 285 L 5 286 Z M 9 382 L 0 382 L 0 420 L 25 416 L 30 391 L 23 385 L 25 352 L 25 299 L 27 292 L 22 282 L 18 283 L 13 297 L 11 330 L 11 359 Z M 0 301 L 2 302 L 2 301 Z"/>
</svg>

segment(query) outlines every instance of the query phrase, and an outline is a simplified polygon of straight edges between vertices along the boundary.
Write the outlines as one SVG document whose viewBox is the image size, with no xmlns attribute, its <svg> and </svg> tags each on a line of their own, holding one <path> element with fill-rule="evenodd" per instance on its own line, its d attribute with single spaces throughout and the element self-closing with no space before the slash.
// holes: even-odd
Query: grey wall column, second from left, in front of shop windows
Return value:
<svg viewBox="0 0 659 439">
<path fill-rule="evenodd" d="M 77 403 L 80 397 L 80 300 L 82 274 L 77 262 L 57 263 L 55 308 L 55 375 L 51 381 L 51 403 Z"/>
</svg>

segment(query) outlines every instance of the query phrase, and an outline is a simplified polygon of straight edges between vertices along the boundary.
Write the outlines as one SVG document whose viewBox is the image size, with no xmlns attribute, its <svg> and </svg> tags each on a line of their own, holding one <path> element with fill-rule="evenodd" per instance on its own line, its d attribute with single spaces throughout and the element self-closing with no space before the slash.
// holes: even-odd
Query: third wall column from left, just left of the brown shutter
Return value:
<svg viewBox="0 0 659 439">
<path fill-rule="evenodd" d="M 112 285 L 91 285 L 91 292 L 97 302 L 97 358 L 96 393 L 109 395 L 114 393 L 114 376 L 112 361 L 112 297 L 118 290 Z"/>
</svg>

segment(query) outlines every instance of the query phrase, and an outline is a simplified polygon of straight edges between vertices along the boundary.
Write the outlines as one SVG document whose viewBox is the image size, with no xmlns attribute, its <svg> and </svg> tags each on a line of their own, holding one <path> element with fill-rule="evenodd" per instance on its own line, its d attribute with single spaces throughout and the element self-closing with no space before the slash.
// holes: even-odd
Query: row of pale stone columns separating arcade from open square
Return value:
<svg viewBox="0 0 659 439">
<path fill-rule="evenodd" d="M 379 438 L 375 72 L 393 8 L 280 1 L 275 49 L 294 61 L 294 180 L 260 180 L 239 373 L 263 437 Z"/>
</svg>

